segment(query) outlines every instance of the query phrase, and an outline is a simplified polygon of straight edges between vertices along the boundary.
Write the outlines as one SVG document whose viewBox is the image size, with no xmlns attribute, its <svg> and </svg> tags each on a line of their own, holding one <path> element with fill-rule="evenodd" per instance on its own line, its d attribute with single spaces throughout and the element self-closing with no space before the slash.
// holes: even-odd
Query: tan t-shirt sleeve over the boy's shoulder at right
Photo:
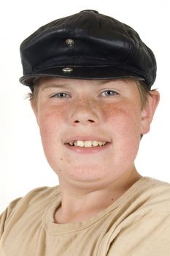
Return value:
<svg viewBox="0 0 170 256">
<path fill-rule="evenodd" d="M 108 232 L 107 255 L 169 256 L 170 184 L 142 177 L 125 199 Z"/>
</svg>

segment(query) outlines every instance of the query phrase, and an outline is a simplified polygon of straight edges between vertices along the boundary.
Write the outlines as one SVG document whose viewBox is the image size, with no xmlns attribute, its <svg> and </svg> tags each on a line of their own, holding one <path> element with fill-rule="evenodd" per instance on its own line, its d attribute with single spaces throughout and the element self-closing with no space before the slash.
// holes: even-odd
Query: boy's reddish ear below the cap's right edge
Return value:
<svg viewBox="0 0 170 256">
<path fill-rule="evenodd" d="M 151 94 L 151 95 L 150 95 Z M 154 116 L 155 110 L 158 106 L 160 94 L 158 91 L 150 91 L 147 96 L 147 104 L 142 110 L 141 116 L 141 134 L 144 135 L 150 131 L 150 124 Z"/>
</svg>

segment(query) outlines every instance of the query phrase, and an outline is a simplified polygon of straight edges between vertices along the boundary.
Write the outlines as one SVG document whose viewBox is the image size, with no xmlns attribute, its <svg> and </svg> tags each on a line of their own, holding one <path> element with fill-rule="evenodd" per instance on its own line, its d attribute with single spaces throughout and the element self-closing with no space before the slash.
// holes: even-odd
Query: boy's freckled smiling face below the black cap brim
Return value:
<svg viewBox="0 0 170 256">
<path fill-rule="evenodd" d="M 140 135 L 150 126 L 134 80 L 40 83 L 36 105 L 31 104 L 45 155 L 61 183 L 106 186 L 133 172 Z M 71 146 L 77 140 L 89 147 Z M 96 141 L 106 144 L 90 146 Z"/>
</svg>

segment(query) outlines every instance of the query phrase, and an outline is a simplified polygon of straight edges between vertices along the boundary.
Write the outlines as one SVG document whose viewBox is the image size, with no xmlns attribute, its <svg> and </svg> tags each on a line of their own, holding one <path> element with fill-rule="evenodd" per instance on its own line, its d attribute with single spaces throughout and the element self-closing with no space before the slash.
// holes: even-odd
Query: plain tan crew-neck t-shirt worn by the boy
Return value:
<svg viewBox="0 0 170 256">
<path fill-rule="evenodd" d="M 0 220 L 1 256 L 169 256 L 170 184 L 140 178 L 85 222 L 55 224 L 60 187 L 13 201 Z"/>
</svg>

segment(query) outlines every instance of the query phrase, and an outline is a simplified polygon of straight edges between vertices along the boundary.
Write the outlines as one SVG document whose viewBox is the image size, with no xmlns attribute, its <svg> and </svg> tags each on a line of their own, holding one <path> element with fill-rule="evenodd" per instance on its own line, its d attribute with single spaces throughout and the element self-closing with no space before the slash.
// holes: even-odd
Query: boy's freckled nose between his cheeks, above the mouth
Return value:
<svg viewBox="0 0 170 256">
<path fill-rule="evenodd" d="M 98 124 L 98 110 L 94 103 L 87 99 L 80 99 L 76 105 L 74 105 L 72 115 L 72 124 Z"/>
</svg>

